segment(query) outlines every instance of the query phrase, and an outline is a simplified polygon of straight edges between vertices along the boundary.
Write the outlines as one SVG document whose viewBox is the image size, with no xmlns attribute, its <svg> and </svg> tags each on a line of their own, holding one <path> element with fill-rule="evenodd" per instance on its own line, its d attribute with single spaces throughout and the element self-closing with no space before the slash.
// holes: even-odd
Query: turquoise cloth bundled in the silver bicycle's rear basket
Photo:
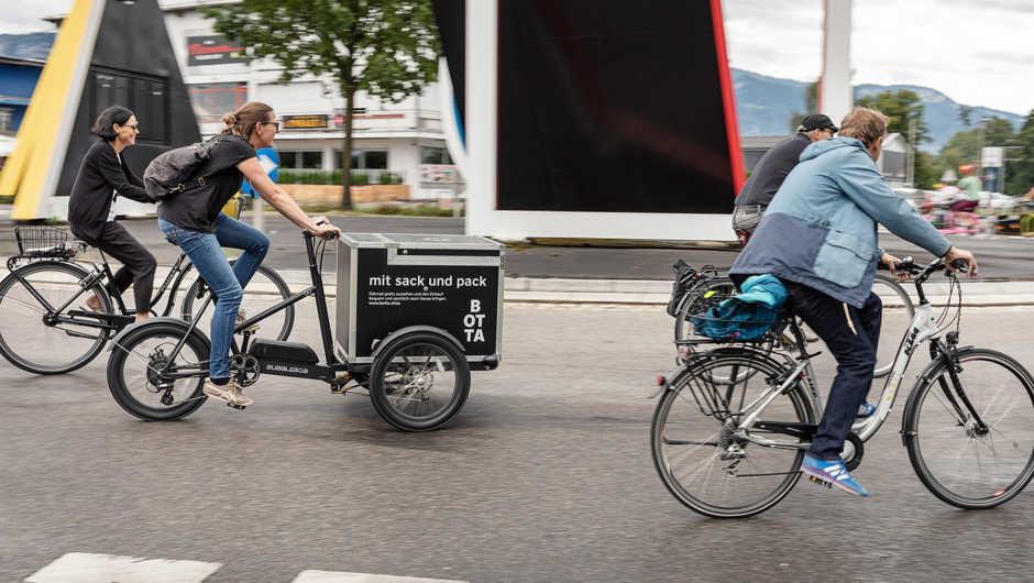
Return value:
<svg viewBox="0 0 1034 583">
<path fill-rule="evenodd" d="M 757 340 L 779 322 L 779 309 L 787 300 L 782 282 L 768 274 L 755 275 L 740 290 L 703 316 L 691 318 L 696 333 L 718 340 Z"/>
</svg>

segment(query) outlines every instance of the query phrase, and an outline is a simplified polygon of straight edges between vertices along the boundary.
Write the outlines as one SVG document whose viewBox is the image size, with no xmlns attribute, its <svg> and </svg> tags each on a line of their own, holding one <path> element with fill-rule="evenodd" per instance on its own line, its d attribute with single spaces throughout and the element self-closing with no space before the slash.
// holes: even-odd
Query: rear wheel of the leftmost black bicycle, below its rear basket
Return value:
<svg viewBox="0 0 1034 583">
<path fill-rule="evenodd" d="M 88 276 L 78 265 L 45 261 L 19 267 L 0 282 L 0 354 L 36 374 L 68 373 L 92 361 L 108 331 L 101 320 L 73 318 L 68 311 L 88 310 L 80 306 L 92 295 L 101 311 L 112 310 L 99 283 L 89 289 L 79 285 Z"/>
</svg>

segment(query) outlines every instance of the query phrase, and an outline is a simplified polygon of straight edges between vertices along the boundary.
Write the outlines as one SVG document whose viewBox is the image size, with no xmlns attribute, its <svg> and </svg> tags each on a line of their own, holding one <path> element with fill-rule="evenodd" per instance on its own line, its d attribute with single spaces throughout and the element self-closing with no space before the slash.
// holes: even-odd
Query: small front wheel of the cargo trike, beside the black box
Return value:
<svg viewBox="0 0 1034 583">
<path fill-rule="evenodd" d="M 430 431 L 452 420 L 471 389 L 471 367 L 436 334 L 409 334 L 384 348 L 370 373 L 370 399 L 385 421 Z"/>
</svg>

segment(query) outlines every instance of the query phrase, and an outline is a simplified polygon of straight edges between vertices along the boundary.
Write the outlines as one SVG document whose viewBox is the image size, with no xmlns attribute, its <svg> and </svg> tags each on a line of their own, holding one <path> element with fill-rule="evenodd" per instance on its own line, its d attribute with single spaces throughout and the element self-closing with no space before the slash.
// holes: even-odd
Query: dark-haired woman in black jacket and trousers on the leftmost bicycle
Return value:
<svg viewBox="0 0 1034 583">
<path fill-rule="evenodd" d="M 151 315 L 151 292 L 157 262 L 140 241 L 133 238 L 116 217 L 116 199 L 124 196 L 139 202 L 153 204 L 144 183 L 133 174 L 122 151 L 136 143 L 136 116 L 112 106 L 106 109 L 90 129 L 101 141 L 86 153 L 68 198 L 68 227 L 73 234 L 122 262 L 112 283 L 119 294 L 133 284 L 136 321 Z M 86 299 L 91 310 L 100 309 L 97 296 Z"/>
</svg>

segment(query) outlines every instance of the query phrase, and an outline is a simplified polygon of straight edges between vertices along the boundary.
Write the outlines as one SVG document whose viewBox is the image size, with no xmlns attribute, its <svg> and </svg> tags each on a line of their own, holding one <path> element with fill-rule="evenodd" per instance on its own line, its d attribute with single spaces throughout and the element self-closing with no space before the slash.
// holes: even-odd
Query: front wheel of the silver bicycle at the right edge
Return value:
<svg viewBox="0 0 1034 583">
<path fill-rule="evenodd" d="M 934 496 L 959 508 L 990 508 L 1022 492 L 1034 475 L 1034 381 L 1001 352 L 969 349 L 958 356 L 958 381 L 985 427 L 938 362 L 909 398 L 909 458 Z"/>
</svg>

